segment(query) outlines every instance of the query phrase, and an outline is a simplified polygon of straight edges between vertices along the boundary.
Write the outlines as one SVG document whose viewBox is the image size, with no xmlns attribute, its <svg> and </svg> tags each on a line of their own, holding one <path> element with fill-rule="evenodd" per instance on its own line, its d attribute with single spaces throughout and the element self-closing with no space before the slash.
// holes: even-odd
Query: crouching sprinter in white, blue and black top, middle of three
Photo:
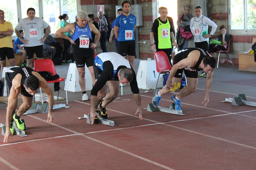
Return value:
<svg viewBox="0 0 256 170">
<path fill-rule="evenodd" d="M 98 122 L 98 105 L 100 107 L 101 116 L 108 119 L 106 106 L 116 99 L 119 93 L 119 82 L 126 85 L 130 83 L 133 97 L 137 105 L 135 115 L 141 115 L 140 91 L 138 88 L 136 74 L 132 69 L 129 61 L 124 59 L 122 55 L 117 53 L 100 53 L 94 60 L 94 73 L 96 83 L 91 92 L 91 121 L 92 124 Z M 107 94 L 106 83 L 108 82 L 109 93 Z M 107 94 L 107 95 L 106 95 Z M 105 100 L 101 101 L 105 96 Z M 95 112 L 96 111 L 96 112 Z"/>
</svg>

